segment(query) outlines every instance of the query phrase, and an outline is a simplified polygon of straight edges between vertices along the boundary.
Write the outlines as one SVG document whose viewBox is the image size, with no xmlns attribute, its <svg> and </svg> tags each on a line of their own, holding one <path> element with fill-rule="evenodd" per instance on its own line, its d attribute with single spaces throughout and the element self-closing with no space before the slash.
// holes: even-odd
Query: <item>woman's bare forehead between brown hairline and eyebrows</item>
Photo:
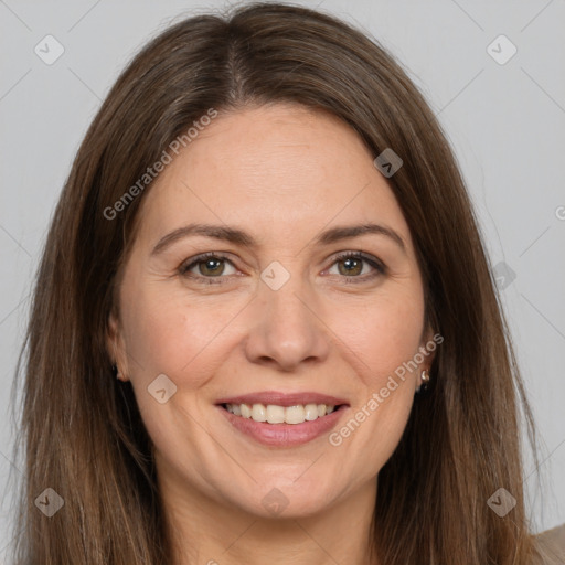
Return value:
<svg viewBox="0 0 565 565">
<path fill-rule="evenodd" d="M 358 134 L 326 111 L 277 104 L 220 114 L 160 173 L 145 198 L 141 230 L 211 221 L 280 238 L 332 222 L 381 221 L 407 236 L 373 159 Z"/>
</svg>

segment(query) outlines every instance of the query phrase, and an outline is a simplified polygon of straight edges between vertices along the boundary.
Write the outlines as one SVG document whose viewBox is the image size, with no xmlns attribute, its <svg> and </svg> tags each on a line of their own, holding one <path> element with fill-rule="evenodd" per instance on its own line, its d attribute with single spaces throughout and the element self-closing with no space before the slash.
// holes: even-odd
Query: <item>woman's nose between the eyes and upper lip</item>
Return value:
<svg viewBox="0 0 565 565">
<path fill-rule="evenodd" d="M 316 297 L 299 278 L 290 277 L 278 290 L 259 282 L 245 343 L 249 362 L 291 372 L 301 363 L 320 363 L 328 358 L 331 332 Z"/>
</svg>

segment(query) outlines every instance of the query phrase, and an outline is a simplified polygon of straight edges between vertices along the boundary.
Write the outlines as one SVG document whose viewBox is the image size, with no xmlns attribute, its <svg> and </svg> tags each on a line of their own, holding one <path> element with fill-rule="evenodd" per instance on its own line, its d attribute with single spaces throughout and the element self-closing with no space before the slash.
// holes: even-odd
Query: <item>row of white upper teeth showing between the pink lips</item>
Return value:
<svg viewBox="0 0 565 565">
<path fill-rule="evenodd" d="M 327 414 L 331 414 L 335 406 L 326 404 L 307 404 L 296 406 L 277 406 L 275 404 L 225 404 L 227 412 L 243 418 L 255 422 L 268 422 L 269 424 L 302 424 L 313 422 Z"/>
</svg>

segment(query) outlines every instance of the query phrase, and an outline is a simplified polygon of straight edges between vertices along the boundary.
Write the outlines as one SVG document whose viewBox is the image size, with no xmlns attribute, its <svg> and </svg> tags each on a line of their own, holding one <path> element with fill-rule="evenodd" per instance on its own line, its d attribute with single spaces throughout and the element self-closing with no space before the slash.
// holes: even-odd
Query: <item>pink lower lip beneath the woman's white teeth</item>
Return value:
<svg viewBox="0 0 565 565">
<path fill-rule="evenodd" d="M 291 447 L 307 444 L 330 431 L 348 407 L 343 405 L 331 414 L 327 414 L 311 422 L 303 422 L 302 424 L 268 424 L 266 422 L 255 422 L 252 418 L 234 416 L 222 406 L 217 406 L 217 408 L 236 429 L 250 436 L 259 444 Z"/>
</svg>

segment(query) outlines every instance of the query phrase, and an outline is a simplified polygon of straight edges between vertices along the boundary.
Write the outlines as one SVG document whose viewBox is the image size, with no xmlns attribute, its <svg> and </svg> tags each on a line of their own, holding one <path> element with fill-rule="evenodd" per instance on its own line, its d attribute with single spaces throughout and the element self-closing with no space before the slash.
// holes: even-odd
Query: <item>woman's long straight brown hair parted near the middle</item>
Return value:
<svg viewBox="0 0 565 565">
<path fill-rule="evenodd" d="M 221 115 L 277 102 L 330 111 L 375 157 L 392 148 L 403 159 L 388 184 L 415 244 L 427 321 L 444 337 L 431 388 L 379 473 L 380 562 L 527 563 L 521 407 L 531 438 L 533 427 L 446 136 L 376 41 L 329 14 L 275 3 L 167 29 L 119 76 L 78 150 L 52 218 L 19 363 L 25 356 L 15 563 L 169 562 L 151 443 L 106 349 L 120 267 L 150 182 L 120 199 L 211 108 Z M 34 502 L 46 488 L 64 500 L 51 518 Z M 516 500 L 504 518 L 487 503 L 500 488 Z"/>
</svg>

